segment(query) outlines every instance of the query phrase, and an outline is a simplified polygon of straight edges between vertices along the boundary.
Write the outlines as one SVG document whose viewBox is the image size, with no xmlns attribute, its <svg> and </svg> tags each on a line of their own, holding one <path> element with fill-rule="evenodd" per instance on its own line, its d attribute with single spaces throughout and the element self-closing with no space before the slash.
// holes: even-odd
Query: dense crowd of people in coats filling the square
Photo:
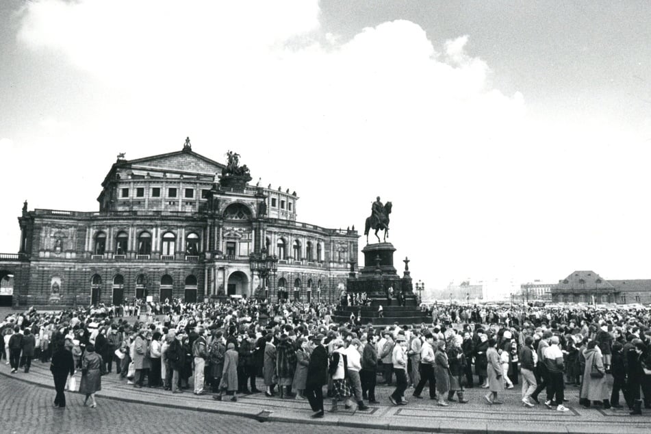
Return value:
<svg viewBox="0 0 651 434">
<path fill-rule="evenodd" d="M 131 303 L 12 314 L 0 325 L 12 373 L 32 359 L 51 363 L 64 389 L 81 370 L 79 392 L 95 407 L 101 379 L 115 372 L 140 387 L 173 394 L 238 394 L 309 401 L 315 418 L 339 405 L 364 411 L 388 401 L 407 405 L 427 388 L 435 405 L 468 403 L 465 390 L 485 390 L 487 405 L 521 385 L 522 406 L 567 411 L 564 391 L 579 388 L 578 405 L 651 409 L 651 316 L 648 309 L 482 305 L 424 307 L 431 322 L 373 326 L 335 323 L 334 305 L 237 299 L 221 303 Z M 262 379 L 258 390 L 257 379 Z M 620 400 L 621 398 L 621 400 Z"/>
</svg>

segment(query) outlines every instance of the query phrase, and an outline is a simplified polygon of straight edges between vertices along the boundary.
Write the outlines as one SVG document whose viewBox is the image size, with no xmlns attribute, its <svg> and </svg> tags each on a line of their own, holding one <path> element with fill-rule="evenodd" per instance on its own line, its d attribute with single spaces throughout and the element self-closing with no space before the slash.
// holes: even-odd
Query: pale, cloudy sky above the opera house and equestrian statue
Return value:
<svg viewBox="0 0 651 434">
<path fill-rule="evenodd" d="M 0 251 L 127 159 L 242 155 L 298 220 L 394 204 L 427 287 L 649 279 L 648 1 L 0 1 Z M 366 244 L 360 238 L 360 249 Z M 401 267 L 400 267 L 401 268 Z"/>
</svg>

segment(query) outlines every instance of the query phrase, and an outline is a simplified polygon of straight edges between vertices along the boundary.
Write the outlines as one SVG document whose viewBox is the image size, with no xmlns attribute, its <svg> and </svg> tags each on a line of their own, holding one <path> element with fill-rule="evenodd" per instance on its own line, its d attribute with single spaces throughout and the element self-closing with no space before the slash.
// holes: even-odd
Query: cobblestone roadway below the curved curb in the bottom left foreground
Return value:
<svg viewBox="0 0 651 434">
<path fill-rule="evenodd" d="M 52 407 L 55 392 L 0 378 L 0 432 L 47 433 L 373 433 L 371 429 L 257 422 L 238 416 L 162 409 L 145 404 L 97 398 L 97 408 L 83 407 L 84 397 L 66 393 L 65 409 Z"/>
</svg>

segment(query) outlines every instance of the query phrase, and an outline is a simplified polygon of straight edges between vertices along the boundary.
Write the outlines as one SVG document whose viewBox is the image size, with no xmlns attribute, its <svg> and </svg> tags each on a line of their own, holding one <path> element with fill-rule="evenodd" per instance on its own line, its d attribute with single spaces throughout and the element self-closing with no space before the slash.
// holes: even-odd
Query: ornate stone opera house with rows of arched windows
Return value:
<svg viewBox="0 0 651 434">
<path fill-rule="evenodd" d="M 0 263 L 14 276 L 14 305 L 275 298 L 279 290 L 335 300 L 348 261 L 357 260 L 357 232 L 297 222 L 296 192 L 224 186 L 224 169 L 190 146 L 118 157 L 99 212 L 29 211 L 25 203 L 20 251 Z M 279 257 L 276 275 L 264 282 L 249 262 L 261 248 Z"/>
</svg>

